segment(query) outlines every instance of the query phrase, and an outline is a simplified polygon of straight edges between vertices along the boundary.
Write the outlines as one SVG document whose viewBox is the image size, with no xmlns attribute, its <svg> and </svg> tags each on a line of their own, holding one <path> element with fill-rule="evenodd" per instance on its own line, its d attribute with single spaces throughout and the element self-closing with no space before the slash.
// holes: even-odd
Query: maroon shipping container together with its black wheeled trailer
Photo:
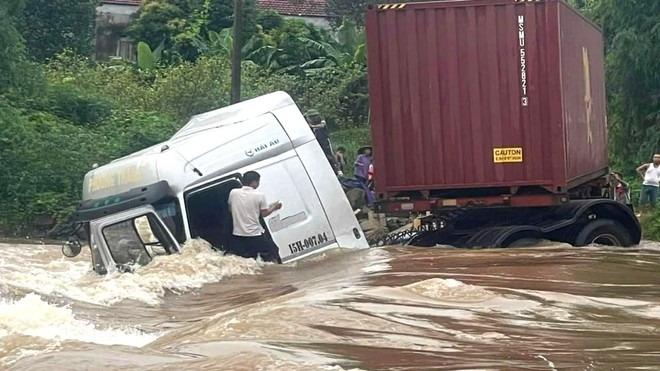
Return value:
<svg viewBox="0 0 660 371">
<path fill-rule="evenodd" d="M 604 197 L 601 30 L 561 0 L 370 5 L 376 211 L 421 215 L 380 244 L 632 246 Z"/>
</svg>

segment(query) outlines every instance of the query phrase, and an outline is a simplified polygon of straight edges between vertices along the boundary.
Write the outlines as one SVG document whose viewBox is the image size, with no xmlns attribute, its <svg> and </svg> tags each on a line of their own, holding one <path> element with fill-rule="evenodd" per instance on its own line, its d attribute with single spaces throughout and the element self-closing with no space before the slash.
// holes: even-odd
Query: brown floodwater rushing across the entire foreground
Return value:
<svg viewBox="0 0 660 371">
<path fill-rule="evenodd" d="M 0 245 L 2 370 L 660 370 L 660 245 L 333 251 L 202 242 L 135 274 Z"/>
</svg>

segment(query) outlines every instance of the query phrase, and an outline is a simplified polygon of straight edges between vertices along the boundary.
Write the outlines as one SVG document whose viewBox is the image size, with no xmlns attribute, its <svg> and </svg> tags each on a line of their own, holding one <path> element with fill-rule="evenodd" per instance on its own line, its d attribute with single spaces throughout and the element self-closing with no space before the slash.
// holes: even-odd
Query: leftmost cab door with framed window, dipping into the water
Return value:
<svg viewBox="0 0 660 371">
<path fill-rule="evenodd" d="M 152 206 L 141 206 L 90 222 L 92 260 L 99 274 L 131 271 L 179 245 Z M 96 261 L 94 261 L 96 260 Z"/>
</svg>

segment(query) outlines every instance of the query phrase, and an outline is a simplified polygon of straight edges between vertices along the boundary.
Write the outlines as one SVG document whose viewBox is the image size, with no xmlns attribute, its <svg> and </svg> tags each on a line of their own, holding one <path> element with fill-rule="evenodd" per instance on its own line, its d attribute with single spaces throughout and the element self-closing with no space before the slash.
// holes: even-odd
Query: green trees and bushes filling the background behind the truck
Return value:
<svg viewBox="0 0 660 371">
<path fill-rule="evenodd" d="M 329 0 L 332 30 L 258 11 L 253 0 L 242 15 L 241 98 L 283 90 L 303 112 L 318 110 L 349 167 L 370 143 L 361 11 L 370 2 Z M 573 3 L 604 25 L 612 163 L 632 177 L 660 151 L 660 2 Z M 91 47 L 96 5 L 0 2 L 4 235 L 43 234 L 71 213 L 93 164 L 163 141 L 229 102 L 232 1 L 146 0 L 126 30 L 135 58 L 103 61 Z M 660 222 L 647 232 L 660 238 Z"/>
</svg>

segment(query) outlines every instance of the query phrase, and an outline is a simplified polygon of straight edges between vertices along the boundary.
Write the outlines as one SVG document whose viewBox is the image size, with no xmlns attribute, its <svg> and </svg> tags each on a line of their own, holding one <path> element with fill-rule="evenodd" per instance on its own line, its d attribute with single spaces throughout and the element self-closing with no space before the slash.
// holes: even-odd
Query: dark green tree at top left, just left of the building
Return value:
<svg viewBox="0 0 660 371">
<path fill-rule="evenodd" d="M 96 0 L 26 0 L 21 27 L 28 55 L 43 61 L 70 49 L 92 49 Z"/>
</svg>

